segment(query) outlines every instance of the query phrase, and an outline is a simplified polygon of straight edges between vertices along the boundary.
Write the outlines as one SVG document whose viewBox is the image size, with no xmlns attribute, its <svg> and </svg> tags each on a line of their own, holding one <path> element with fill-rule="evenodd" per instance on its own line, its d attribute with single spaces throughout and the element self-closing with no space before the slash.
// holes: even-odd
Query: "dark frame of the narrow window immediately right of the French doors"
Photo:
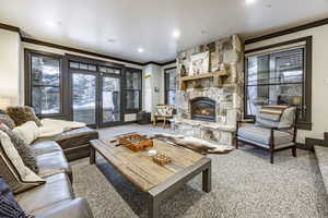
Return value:
<svg viewBox="0 0 328 218">
<path fill-rule="evenodd" d="M 139 74 L 139 76 L 140 76 L 140 89 L 128 89 L 127 88 L 127 72 L 133 72 L 133 73 L 138 73 Z M 142 110 L 142 70 L 140 70 L 140 69 L 134 69 L 134 68 L 125 68 L 124 69 L 124 80 L 125 80 L 125 83 L 124 83 L 124 99 L 122 100 L 126 100 L 127 99 L 127 93 L 128 92 L 136 92 L 136 90 L 138 90 L 139 92 L 139 108 L 133 108 L 133 109 L 131 109 L 131 108 L 127 108 L 127 102 L 125 102 L 124 104 L 124 106 L 125 106 L 125 113 L 126 114 L 131 114 L 131 113 L 138 113 L 139 111 L 141 111 Z"/>
</svg>

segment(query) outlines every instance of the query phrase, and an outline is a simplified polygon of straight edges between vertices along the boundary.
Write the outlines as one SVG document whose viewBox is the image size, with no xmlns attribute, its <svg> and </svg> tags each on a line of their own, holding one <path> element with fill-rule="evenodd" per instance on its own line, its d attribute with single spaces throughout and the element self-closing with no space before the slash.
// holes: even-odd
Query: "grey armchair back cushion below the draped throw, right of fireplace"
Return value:
<svg viewBox="0 0 328 218">
<path fill-rule="evenodd" d="M 286 108 L 280 120 L 277 121 L 274 119 L 270 119 L 269 117 L 263 117 L 263 116 L 256 116 L 256 125 L 257 126 L 262 126 L 262 128 L 278 128 L 278 129 L 289 129 L 292 128 L 294 124 L 294 119 L 295 119 L 295 107 L 290 107 Z"/>
</svg>

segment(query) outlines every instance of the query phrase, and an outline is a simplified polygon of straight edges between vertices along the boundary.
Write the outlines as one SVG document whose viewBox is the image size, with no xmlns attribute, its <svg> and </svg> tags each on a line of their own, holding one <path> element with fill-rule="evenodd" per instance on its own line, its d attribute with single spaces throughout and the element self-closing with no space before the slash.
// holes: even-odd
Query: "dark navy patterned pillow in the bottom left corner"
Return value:
<svg viewBox="0 0 328 218">
<path fill-rule="evenodd" d="M 0 217 L 8 218 L 32 218 L 26 215 L 15 201 L 12 191 L 0 177 Z"/>
</svg>

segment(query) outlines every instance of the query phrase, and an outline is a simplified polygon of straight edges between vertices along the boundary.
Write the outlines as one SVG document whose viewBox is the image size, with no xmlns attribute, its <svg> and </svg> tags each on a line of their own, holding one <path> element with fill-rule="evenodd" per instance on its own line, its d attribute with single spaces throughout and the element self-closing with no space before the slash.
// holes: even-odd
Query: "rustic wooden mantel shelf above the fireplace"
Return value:
<svg viewBox="0 0 328 218">
<path fill-rule="evenodd" d="M 229 76 L 230 74 L 226 71 L 216 71 L 212 73 L 201 73 L 198 75 L 188 75 L 188 76 L 183 76 L 180 77 L 180 89 L 186 90 L 188 87 L 188 82 L 192 81 L 194 82 L 194 87 L 195 83 L 198 80 L 202 78 L 213 78 L 213 83 L 215 87 L 222 87 L 222 78 Z"/>
</svg>

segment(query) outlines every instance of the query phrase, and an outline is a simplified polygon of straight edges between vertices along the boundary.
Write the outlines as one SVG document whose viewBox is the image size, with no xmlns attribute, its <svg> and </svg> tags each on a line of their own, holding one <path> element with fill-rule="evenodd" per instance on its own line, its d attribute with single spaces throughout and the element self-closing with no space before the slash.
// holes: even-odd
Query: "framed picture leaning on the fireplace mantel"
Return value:
<svg viewBox="0 0 328 218">
<path fill-rule="evenodd" d="M 190 57 L 189 75 L 208 73 L 210 68 L 210 52 L 206 51 Z"/>
</svg>

